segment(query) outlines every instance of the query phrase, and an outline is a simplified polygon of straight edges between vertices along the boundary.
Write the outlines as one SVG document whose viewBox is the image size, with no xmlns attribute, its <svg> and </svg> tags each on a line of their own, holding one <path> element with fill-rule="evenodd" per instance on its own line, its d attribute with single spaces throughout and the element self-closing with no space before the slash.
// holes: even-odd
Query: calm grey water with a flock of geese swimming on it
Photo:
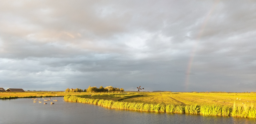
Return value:
<svg viewBox="0 0 256 124">
<path fill-rule="evenodd" d="M 27 99 L 0 100 L 1 124 L 253 124 L 254 118 L 202 116 L 192 114 L 169 114 L 115 110 L 92 104 L 71 103 L 63 101 L 63 97 L 53 97 L 51 100 L 36 103 Z M 46 99 L 46 98 L 44 98 Z M 44 104 L 47 102 L 48 104 Z M 50 104 L 54 102 L 54 104 Z"/>
</svg>

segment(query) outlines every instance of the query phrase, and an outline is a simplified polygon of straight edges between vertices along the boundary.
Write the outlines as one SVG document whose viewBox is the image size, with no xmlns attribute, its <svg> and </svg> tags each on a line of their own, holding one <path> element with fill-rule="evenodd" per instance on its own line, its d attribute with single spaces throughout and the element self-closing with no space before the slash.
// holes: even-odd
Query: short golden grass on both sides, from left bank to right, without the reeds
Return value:
<svg viewBox="0 0 256 124">
<path fill-rule="evenodd" d="M 136 92 L 132 92 L 137 94 Z M 18 97 L 26 98 L 27 96 L 43 97 L 43 96 L 64 96 L 64 95 L 92 95 L 88 98 L 104 99 L 104 100 L 117 100 L 116 97 L 101 96 L 100 94 L 111 93 L 77 93 L 77 92 L 0 92 L 0 99 L 6 97 Z M 97 96 L 100 95 L 100 96 Z M 219 104 L 232 106 L 234 102 L 236 104 L 242 103 L 256 103 L 256 93 L 191 93 L 191 92 L 179 92 L 178 94 L 172 93 L 160 93 L 160 92 L 141 92 L 139 97 L 133 97 L 121 100 L 123 102 L 136 102 L 136 103 L 148 103 L 148 104 L 175 104 L 175 105 L 203 105 L 203 104 Z"/>
</svg>

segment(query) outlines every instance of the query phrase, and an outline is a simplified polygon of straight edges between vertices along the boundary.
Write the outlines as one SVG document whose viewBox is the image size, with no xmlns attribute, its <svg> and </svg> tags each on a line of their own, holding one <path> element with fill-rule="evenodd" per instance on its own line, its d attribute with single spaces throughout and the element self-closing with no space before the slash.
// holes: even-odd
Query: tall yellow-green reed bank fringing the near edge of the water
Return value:
<svg viewBox="0 0 256 124">
<path fill-rule="evenodd" d="M 233 106 L 227 105 L 179 105 L 179 104 L 150 104 L 142 102 L 124 102 L 114 98 L 128 98 L 129 95 L 65 95 L 64 100 L 69 102 L 80 102 L 95 104 L 103 107 L 122 109 L 122 110 L 137 110 L 147 112 L 162 112 L 162 113 L 188 113 L 188 114 L 201 114 L 201 115 L 213 115 L 213 116 L 232 116 L 232 117 L 256 117 L 256 108 L 252 103 L 246 104 L 233 104 Z M 129 99 L 136 99 L 137 97 L 144 97 L 144 95 L 130 95 Z M 112 98 L 112 100 L 107 99 Z M 139 99 L 139 98 L 137 98 Z M 128 100 L 128 99 L 126 99 Z"/>
</svg>

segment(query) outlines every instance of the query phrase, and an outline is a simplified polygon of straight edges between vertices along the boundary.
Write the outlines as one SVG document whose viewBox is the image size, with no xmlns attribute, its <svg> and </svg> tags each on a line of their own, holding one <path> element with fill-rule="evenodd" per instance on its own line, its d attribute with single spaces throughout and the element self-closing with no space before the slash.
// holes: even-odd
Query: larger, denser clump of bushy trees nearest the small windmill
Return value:
<svg viewBox="0 0 256 124">
<path fill-rule="evenodd" d="M 103 87 L 100 86 L 100 88 L 97 88 L 96 86 L 91 87 L 89 86 L 88 89 L 86 90 L 86 92 L 123 92 L 123 88 L 115 88 L 113 86 L 107 86 L 107 87 Z"/>
</svg>

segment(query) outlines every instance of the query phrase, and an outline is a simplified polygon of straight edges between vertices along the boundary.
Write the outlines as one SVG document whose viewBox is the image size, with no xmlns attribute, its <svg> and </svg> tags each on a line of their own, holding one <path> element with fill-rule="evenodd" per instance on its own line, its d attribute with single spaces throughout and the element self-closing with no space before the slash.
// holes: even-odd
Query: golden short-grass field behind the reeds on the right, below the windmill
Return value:
<svg viewBox="0 0 256 124">
<path fill-rule="evenodd" d="M 144 96 L 122 100 L 136 103 L 163 103 L 175 105 L 203 105 L 220 104 L 230 105 L 235 103 L 256 103 L 256 93 L 142 93 Z M 237 99 L 237 100 L 236 100 Z"/>
</svg>

